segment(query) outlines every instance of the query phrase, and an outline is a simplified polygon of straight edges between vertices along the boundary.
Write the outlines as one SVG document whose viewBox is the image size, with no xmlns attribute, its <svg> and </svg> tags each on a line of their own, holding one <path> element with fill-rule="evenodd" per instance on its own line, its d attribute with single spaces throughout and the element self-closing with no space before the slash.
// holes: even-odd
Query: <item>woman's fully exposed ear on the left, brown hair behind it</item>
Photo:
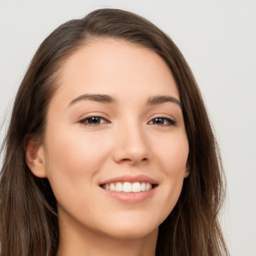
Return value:
<svg viewBox="0 0 256 256">
<path fill-rule="evenodd" d="M 38 145 L 34 139 L 27 137 L 24 140 L 25 160 L 32 173 L 39 177 L 46 177 L 45 156 L 42 145 Z"/>
</svg>

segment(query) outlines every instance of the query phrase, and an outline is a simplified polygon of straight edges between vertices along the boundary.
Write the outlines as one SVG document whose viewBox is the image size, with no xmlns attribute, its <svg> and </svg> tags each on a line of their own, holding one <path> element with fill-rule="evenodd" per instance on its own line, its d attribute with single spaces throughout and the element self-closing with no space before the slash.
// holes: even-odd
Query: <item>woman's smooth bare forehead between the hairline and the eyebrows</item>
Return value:
<svg viewBox="0 0 256 256">
<path fill-rule="evenodd" d="M 140 99 L 171 94 L 179 99 L 172 73 L 156 52 L 111 38 L 89 41 L 63 65 L 55 96 L 70 100 L 85 93 L 117 98 L 139 94 Z"/>
</svg>

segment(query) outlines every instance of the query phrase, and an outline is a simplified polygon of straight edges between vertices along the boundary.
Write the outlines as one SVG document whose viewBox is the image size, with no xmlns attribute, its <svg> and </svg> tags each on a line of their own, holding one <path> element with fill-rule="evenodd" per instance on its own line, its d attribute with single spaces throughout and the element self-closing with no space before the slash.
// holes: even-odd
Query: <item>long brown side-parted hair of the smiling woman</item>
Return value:
<svg viewBox="0 0 256 256">
<path fill-rule="evenodd" d="M 172 71 L 180 93 L 190 174 L 177 204 L 159 226 L 155 255 L 228 255 L 217 218 L 225 187 L 223 170 L 195 79 L 164 32 L 145 18 L 119 9 L 98 9 L 60 25 L 41 43 L 26 71 L 2 146 L 1 255 L 56 255 L 56 199 L 48 180 L 35 177 L 26 165 L 23 143 L 27 137 L 43 141 L 47 106 L 58 86 L 61 66 L 95 37 L 124 39 L 155 51 Z"/>
</svg>

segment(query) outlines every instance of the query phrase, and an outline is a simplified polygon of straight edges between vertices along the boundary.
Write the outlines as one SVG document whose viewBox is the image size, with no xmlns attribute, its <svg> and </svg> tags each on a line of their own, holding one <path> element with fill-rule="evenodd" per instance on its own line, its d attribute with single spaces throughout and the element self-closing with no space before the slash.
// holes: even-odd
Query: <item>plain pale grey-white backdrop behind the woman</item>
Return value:
<svg viewBox="0 0 256 256">
<path fill-rule="evenodd" d="M 100 7 L 140 14 L 167 32 L 201 88 L 227 176 L 222 227 L 232 256 L 256 256 L 255 0 L 0 0 L 2 141 L 15 92 L 40 42 Z"/>
</svg>

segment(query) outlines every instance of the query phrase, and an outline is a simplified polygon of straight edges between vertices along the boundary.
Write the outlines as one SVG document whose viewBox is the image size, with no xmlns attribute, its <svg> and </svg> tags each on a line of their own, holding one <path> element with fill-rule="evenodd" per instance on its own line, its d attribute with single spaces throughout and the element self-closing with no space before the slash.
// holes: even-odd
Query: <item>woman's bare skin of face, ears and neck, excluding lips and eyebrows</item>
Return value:
<svg viewBox="0 0 256 256">
<path fill-rule="evenodd" d="M 88 93 L 115 102 L 77 100 Z M 154 255 L 158 225 L 188 175 L 181 107 L 171 101 L 147 104 L 159 95 L 179 100 L 171 71 L 150 49 L 95 39 L 66 60 L 49 103 L 44 142 L 37 147 L 30 141 L 26 150 L 31 171 L 48 178 L 57 200 L 58 255 Z M 103 118 L 89 124 L 88 116 Z M 155 123 L 156 117 L 163 123 Z M 120 201 L 99 186 L 140 174 L 157 181 L 141 202 Z"/>
</svg>

